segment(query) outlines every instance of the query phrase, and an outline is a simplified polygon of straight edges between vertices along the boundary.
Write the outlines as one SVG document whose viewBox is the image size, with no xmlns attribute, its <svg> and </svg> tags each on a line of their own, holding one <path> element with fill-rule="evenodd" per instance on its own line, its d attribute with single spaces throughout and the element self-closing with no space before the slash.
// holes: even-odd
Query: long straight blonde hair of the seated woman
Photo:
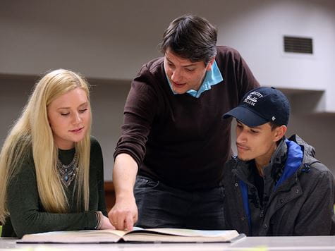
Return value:
<svg viewBox="0 0 335 251">
<path fill-rule="evenodd" d="M 83 89 L 90 99 L 89 86 L 85 79 L 68 70 L 55 70 L 44 75 L 37 82 L 28 103 L 8 133 L 0 153 L 0 221 L 5 223 L 9 215 L 7 208 L 7 187 L 11 178 L 25 168 L 22 160 L 28 157 L 32 149 L 35 164 L 37 189 L 44 209 L 52 213 L 68 212 L 68 200 L 56 168 L 58 148 L 48 121 L 47 107 L 62 94 Z M 91 111 L 91 109 L 89 109 Z M 89 169 L 90 169 L 90 128 L 83 140 L 75 142 L 78 152 L 78 174 L 75 177 L 78 210 L 84 204 L 85 211 L 89 204 Z M 73 194 L 74 195 L 74 194 Z"/>
</svg>

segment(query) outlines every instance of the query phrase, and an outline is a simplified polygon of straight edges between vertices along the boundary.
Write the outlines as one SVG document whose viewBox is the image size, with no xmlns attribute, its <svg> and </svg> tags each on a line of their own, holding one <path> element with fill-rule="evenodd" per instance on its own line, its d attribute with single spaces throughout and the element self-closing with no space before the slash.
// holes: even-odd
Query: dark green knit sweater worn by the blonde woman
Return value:
<svg viewBox="0 0 335 251">
<path fill-rule="evenodd" d="M 59 149 L 59 159 L 63 164 L 70 164 L 75 149 Z M 10 217 L 6 219 L 1 236 L 19 237 L 27 233 L 47 231 L 68 231 L 93 229 L 97 225 L 96 211 L 106 215 L 104 201 L 104 171 L 102 149 L 99 142 L 91 137 L 90 152 L 90 202 L 89 211 L 78 209 L 77 197 L 73 196 L 75 180 L 64 189 L 68 198 L 69 209 L 66 214 L 46 212 L 37 191 L 37 180 L 32 154 L 21 163 L 18 173 L 8 184 L 7 205 Z M 76 194 L 76 192 L 75 192 Z"/>
</svg>

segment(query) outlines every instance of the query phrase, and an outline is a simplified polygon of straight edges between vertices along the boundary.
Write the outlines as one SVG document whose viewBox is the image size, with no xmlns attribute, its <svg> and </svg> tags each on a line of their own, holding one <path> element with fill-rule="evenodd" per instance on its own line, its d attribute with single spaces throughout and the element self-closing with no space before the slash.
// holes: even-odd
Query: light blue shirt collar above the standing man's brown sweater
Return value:
<svg viewBox="0 0 335 251">
<path fill-rule="evenodd" d="M 166 74 L 166 73 L 165 73 Z M 178 94 L 176 92 L 173 91 L 172 89 L 172 85 L 171 82 L 169 80 L 169 78 L 166 75 L 166 78 L 169 82 L 169 85 L 171 87 L 171 90 L 173 92 L 173 94 Z M 224 80 L 224 78 L 222 77 L 219 67 L 217 67 L 217 62 L 214 61 L 213 65 L 212 65 L 212 69 L 210 71 L 207 71 L 204 80 L 202 81 L 202 85 L 200 86 L 199 90 L 188 90 L 186 93 L 190 94 L 193 97 L 200 97 L 200 95 L 202 94 L 202 92 L 205 92 L 207 90 L 212 89 L 212 85 L 217 85 L 219 84 L 219 82 L 221 82 L 222 80 Z"/>
</svg>

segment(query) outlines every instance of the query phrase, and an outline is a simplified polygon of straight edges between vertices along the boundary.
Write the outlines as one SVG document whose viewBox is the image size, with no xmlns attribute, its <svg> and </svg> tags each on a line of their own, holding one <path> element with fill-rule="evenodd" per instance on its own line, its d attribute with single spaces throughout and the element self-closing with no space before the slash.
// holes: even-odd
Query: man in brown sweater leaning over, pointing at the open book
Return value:
<svg viewBox="0 0 335 251">
<path fill-rule="evenodd" d="M 205 18 L 181 16 L 165 30 L 164 57 L 142 66 L 114 152 L 118 229 L 224 228 L 224 163 L 230 122 L 221 114 L 258 87 L 238 51 L 217 47 Z M 135 185 L 135 188 L 134 188 Z"/>
</svg>

